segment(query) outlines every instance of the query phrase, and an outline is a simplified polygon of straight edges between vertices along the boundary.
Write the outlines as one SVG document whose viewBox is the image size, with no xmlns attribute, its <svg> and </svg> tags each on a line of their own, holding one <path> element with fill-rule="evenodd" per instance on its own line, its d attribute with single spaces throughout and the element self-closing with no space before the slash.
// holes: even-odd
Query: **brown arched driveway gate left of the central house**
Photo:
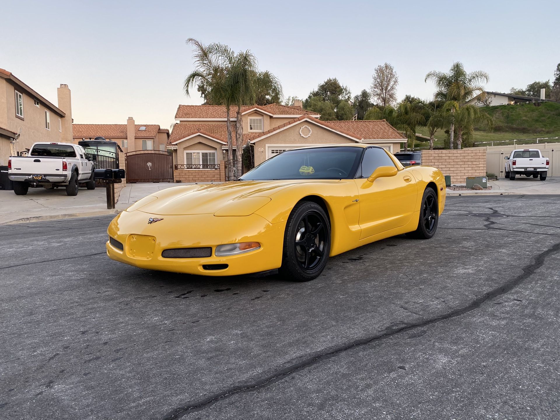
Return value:
<svg viewBox="0 0 560 420">
<path fill-rule="evenodd" d="M 173 182 L 173 156 L 158 150 L 137 150 L 124 156 L 127 183 Z"/>
</svg>

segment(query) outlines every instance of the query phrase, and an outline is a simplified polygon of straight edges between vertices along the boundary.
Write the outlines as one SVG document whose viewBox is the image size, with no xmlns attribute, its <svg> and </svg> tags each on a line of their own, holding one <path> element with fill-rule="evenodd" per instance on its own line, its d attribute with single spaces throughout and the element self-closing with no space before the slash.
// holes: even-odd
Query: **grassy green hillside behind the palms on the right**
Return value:
<svg viewBox="0 0 560 420">
<path fill-rule="evenodd" d="M 494 130 L 487 132 L 482 127 L 477 127 L 474 132 L 474 141 L 477 146 L 491 146 L 498 144 L 530 144 L 536 143 L 537 138 L 559 137 L 558 139 L 539 140 L 540 142 L 560 143 L 560 103 L 543 102 L 540 106 L 533 104 L 485 106 L 480 110 L 486 112 L 494 119 Z M 419 127 L 418 133 L 428 135 L 425 127 Z M 436 147 L 443 146 L 445 133 L 438 131 Z M 525 140 L 526 139 L 526 140 Z M 507 141 L 507 142 L 505 142 Z M 420 147 L 427 147 L 427 143 L 418 143 Z"/>
</svg>

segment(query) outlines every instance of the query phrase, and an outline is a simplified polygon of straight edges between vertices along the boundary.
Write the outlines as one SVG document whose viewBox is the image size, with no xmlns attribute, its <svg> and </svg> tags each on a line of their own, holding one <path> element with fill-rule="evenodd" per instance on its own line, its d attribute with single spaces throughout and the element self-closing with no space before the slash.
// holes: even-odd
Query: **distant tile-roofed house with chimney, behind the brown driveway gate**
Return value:
<svg viewBox="0 0 560 420">
<path fill-rule="evenodd" d="M 167 150 L 169 130 L 157 124 L 136 124 L 132 116 L 126 124 L 72 124 L 73 142 L 95 137 L 117 142 L 123 152 L 136 150 Z"/>
</svg>

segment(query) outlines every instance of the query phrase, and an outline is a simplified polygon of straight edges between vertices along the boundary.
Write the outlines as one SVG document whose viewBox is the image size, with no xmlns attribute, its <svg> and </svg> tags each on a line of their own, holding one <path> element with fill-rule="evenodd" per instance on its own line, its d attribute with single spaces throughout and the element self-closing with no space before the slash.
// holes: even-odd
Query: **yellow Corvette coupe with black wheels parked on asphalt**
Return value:
<svg viewBox="0 0 560 420">
<path fill-rule="evenodd" d="M 111 221 L 109 258 L 206 276 L 276 270 L 296 281 L 329 256 L 389 236 L 431 238 L 444 176 L 368 144 L 280 153 L 240 179 L 148 195 Z"/>
</svg>

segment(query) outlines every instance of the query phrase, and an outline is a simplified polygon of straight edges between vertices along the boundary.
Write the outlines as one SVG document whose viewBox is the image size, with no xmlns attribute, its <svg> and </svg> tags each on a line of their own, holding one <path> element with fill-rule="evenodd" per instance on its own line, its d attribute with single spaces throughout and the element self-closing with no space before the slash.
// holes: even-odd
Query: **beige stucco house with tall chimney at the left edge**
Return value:
<svg viewBox="0 0 560 420">
<path fill-rule="evenodd" d="M 12 72 L 0 68 L 0 165 L 7 165 L 9 156 L 28 150 L 35 142 L 72 141 L 68 85 L 60 85 L 57 94 L 55 106 Z"/>
</svg>

